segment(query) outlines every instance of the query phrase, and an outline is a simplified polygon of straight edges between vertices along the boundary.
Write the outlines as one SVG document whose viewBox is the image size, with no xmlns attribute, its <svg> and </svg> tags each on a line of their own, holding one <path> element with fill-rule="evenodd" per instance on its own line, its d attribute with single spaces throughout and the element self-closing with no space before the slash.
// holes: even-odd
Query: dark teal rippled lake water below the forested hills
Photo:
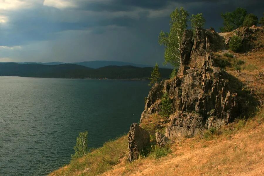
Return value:
<svg viewBox="0 0 264 176">
<path fill-rule="evenodd" d="M 47 175 L 69 163 L 80 131 L 88 147 L 139 121 L 148 82 L 0 77 L 0 175 Z"/>
</svg>

